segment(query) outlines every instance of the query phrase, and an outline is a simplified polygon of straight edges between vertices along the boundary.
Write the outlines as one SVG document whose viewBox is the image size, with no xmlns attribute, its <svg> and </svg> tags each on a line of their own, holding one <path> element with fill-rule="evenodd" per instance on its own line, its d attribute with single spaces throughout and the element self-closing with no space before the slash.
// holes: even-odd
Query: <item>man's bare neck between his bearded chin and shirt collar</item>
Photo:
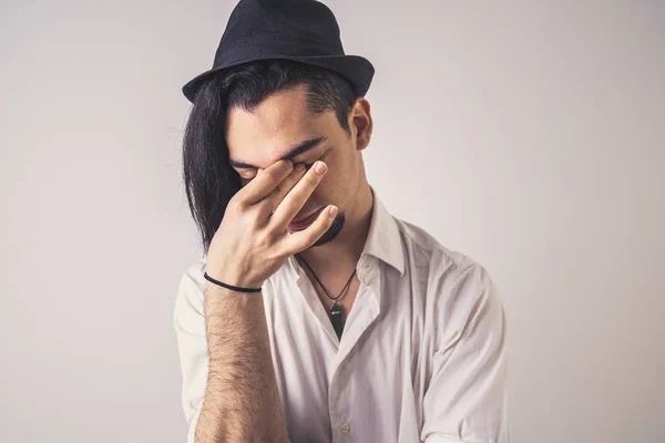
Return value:
<svg viewBox="0 0 665 443">
<path fill-rule="evenodd" d="M 319 270 L 321 274 L 334 275 L 352 271 L 367 241 L 372 207 L 374 195 L 366 184 L 359 189 L 355 206 L 345 213 L 346 222 L 337 237 L 325 245 L 299 253 L 317 276 Z"/>
</svg>

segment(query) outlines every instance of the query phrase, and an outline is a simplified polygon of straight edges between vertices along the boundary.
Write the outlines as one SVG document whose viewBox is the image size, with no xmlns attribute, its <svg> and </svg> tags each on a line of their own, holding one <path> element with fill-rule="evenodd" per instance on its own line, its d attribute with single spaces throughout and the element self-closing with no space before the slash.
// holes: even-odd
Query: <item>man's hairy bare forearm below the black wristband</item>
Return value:
<svg viewBox="0 0 665 443">
<path fill-rule="evenodd" d="M 288 441 L 260 293 L 206 284 L 209 369 L 197 443 Z"/>
</svg>

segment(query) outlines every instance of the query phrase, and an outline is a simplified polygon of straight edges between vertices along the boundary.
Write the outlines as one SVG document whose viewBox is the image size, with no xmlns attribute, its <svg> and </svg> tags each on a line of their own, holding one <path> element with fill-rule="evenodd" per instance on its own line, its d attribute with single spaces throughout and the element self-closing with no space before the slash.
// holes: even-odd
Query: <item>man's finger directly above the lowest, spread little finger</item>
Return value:
<svg viewBox="0 0 665 443">
<path fill-rule="evenodd" d="M 327 171 L 328 166 L 324 162 L 317 161 L 293 188 L 287 189 L 286 196 L 270 216 L 269 224 L 274 229 L 284 231 L 288 228 L 288 224 L 303 209 L 303 206 L 321 182 Z"/>
</svg>

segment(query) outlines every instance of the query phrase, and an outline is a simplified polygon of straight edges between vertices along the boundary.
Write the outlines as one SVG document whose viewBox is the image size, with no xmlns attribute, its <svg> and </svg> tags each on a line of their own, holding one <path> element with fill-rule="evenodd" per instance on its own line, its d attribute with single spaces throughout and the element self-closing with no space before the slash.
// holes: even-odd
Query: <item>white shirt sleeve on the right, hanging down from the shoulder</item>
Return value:
<svg viewBox="0 0 665 443">
<path fill-rule="evenodd" d="M 478 264 L 441 286 L 421 440 L 509 443 L 505 312 L 497 289 Z"/>
</svg>

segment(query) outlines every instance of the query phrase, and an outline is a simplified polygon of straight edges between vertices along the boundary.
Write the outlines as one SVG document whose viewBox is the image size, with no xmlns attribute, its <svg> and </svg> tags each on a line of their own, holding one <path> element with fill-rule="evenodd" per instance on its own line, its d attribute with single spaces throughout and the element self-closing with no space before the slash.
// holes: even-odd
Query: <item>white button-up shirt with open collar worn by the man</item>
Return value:
<svg viewBox="0 0 665 443">
<path fill-rule="evenodd" d="M 293 256 L 257 296 L 290 442 L 508 443 L 505 316 L 492 280 L 372 194 L 341 339 Z M 184 272 L 173 312 L 188 443 L 208 372 L 204 271 L 205 257 Z"/>
</svg>

